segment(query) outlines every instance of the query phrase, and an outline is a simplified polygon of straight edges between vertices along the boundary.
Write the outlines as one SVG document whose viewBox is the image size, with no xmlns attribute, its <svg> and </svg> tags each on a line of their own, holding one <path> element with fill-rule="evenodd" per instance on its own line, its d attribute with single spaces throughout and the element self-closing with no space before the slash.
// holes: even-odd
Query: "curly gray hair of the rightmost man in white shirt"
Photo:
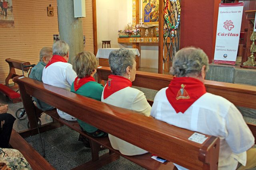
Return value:
<svg viewBox="0 0 256 170">
<path fill-rule="evenodd" d="M 176 53 L 170 73 L 177 77 L 199 76 L 204 65 L 208 71 L 208 63 L 208 57 L 202 49 L 185 47 Z"/>
</svg>

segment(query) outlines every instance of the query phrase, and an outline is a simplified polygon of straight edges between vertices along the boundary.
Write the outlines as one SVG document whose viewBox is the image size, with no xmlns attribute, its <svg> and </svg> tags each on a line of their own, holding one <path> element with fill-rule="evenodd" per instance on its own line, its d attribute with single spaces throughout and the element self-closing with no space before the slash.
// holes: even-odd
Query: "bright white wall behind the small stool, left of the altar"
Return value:
<svg viewBox="0 0 256 170">
<path fill-rule="evenodd" d="M 117 43 L 118 30 L 132 22 L 132 0 L 96 0 L 97 41 L 102 48 L 102 40 L 110 40 L 111 47 Z"/>
</svg>

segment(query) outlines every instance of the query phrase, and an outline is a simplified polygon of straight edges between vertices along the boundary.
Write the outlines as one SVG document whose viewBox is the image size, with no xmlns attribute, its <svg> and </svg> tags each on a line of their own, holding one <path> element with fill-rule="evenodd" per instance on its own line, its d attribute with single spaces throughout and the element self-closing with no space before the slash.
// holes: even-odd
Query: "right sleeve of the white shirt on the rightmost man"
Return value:
<svg viewBox="0 0 256 170">
<path fill-rule="evenodd" d="M 254 137 L 246 125 L 242 114 L 234 106 L 230 105 L 226 119 L 226 141 L 236 154 L 245 152 L 254 145 Z"/>
</svg>

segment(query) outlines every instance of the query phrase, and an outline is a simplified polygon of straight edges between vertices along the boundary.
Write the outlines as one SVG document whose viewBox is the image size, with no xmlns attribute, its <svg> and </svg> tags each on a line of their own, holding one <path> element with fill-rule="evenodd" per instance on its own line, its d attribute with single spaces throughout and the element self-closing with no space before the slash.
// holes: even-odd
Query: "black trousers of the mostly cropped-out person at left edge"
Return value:
<svg viewBox="0 0 256 170">
<path fill-rule="evenodd" d="M 8 148 L 12 126 L 15 120 L 15 117 L 9 113 L 0 114 L 0 148 Z M 3 121 L 4 123 L 2 125 Z"/>
</svg>

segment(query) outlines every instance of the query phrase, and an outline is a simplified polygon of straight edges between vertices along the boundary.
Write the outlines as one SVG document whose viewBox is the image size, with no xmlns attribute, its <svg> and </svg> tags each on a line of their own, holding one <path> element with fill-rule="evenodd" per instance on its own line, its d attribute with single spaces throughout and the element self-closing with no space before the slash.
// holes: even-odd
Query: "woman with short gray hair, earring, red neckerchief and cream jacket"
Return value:
<svg viewBox="0 0 256 170">
<path fill-rule="evenodd" d="M 108 76 L 101 101 L 150 116 L 151 106 L 144 93 L 132 88 L 132 82 L 136 75 L 135 54 L 128 49 L 115 50 L 109 54 L 108 61 L 112 75 Z M 113 135 L 109 134 L 108 137 L 112 147 L 124 155 L 138 155 L 147 152 Z"/>
</svg>

